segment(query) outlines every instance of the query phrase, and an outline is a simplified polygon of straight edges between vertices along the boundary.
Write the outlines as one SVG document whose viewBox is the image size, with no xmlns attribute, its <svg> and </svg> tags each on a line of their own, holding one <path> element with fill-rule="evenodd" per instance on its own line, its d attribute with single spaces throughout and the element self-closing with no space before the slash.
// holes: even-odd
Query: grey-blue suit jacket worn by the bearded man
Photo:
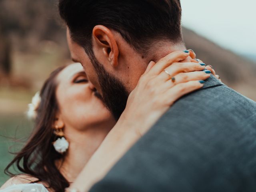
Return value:
<svg viewBox="0 0 256 192">
<path fill-rule="evenodd" d="M 256 103 L 211 76 L 90 192 L 256 192 Z"/>
</svg>

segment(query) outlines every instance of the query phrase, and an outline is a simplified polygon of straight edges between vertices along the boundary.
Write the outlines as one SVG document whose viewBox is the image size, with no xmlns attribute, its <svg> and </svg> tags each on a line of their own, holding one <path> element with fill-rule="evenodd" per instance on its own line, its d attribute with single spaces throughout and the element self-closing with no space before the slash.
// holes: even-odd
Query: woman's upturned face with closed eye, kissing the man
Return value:
<svg viewBox="0 0 256 192">
<path fill-rule="evenodd" d="M 114 118 L 95 95 L 81 64 L 74 63 L 64 68 L 57 76 L 57 84 L 59 117 L 65 127 L 84 130 L 114 126 Z"/>
</svg>

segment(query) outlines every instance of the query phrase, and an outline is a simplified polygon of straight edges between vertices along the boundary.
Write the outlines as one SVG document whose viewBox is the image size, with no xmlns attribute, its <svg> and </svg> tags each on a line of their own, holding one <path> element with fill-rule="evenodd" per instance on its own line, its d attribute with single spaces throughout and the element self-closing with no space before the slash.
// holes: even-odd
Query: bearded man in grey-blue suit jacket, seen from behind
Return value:
<svg viewBox="0 0 256 192">
<path fill-rule="evenodd" d="M 147 64 L 185 49 L 179 0 L 60 0 L 59 9 L 73 60 L 116 119 Z M 91 191 L 255 191 L 255 138 L 256 103 L 212 76 Z"/>
</svg>

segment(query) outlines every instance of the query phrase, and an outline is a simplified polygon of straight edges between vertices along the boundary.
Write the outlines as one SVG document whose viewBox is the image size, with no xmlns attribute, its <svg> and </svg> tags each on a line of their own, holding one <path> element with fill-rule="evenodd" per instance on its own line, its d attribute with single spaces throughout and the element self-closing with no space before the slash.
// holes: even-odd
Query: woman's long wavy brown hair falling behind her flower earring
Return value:
<svg viewBox="0 0 256 192">
<path fill-rule="evenodd" d="M 15 176 L 9 170 L 14 165 L 20 172 L 37 178 L 36 182 L 44 182 L 56 192 L 63 192 L 69 186 L 55 164 L 56 160 L 64 156 L 56 152 L 52 145 L 56 139 L 52 126 L 58 111 L 56 76 L 64 68 L 65 66 L 61 66 L 54 70 L 44 82 L 40 91 L 41 102 L 37 109 L 34 130 L 26 145 L 16 153 L 4 170 L 6 174 Z"/>
</svg>

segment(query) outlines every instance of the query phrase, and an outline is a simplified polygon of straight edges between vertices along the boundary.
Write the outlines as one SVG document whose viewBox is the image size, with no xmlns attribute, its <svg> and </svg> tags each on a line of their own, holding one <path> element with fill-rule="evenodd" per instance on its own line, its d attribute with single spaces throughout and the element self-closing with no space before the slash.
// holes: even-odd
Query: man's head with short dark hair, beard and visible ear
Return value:
<svg viewBox="0 0 256 192">
<path fill-rule="evenodd" d="M 183 45 L 179 0 L 60 0 L 71 55 L 116 118 L 150 60 Z"/>
</svg>

